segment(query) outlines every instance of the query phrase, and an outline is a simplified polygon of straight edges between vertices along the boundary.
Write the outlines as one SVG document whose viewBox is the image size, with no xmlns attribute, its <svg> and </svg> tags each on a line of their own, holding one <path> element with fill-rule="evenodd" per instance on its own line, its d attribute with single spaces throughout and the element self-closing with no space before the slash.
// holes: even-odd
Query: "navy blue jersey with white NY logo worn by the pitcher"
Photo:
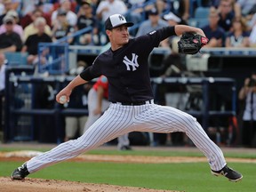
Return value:
<svg viewBox="0 0 256 192">
<path fill-rule="evenodd" d="M 110 48 L 101 53 L 80 76 L 86 81 L 107 76 L 108 100 L 111 102 L 152 100 L 148 55 L 161 41 L 174 35 L 174 27 L 167 27 L 132 38 L 115 52 Z"/>
</svg>

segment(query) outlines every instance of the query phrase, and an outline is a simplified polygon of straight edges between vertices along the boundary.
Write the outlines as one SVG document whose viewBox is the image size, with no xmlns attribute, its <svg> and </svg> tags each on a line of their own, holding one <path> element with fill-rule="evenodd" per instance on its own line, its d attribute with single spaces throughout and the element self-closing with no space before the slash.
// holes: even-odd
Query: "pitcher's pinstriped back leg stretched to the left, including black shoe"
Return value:
<svg viewBox="0 0 256 192">
<path fill-rule="evenodd" d="M 124 116 L 127 118 L 124 118 Z M 50 151 L 31 158 L 21 168 L 19 167 L 12 172 L 11 178 L 13 180 L 22 180 L 28 173 L 36 172 L 51 164 L 76 157 L 129 132 L 129 127 L 132 125 L 132 117 L 129 116 L 132 116 L 130 110 L 116 112 L 116 108 L 108 108 L 104 115 L 100 116 L 77 140 L 68 140 Z M 26 171 L 25 174 L 22 173 L 24 170 Z"/>
</svg>

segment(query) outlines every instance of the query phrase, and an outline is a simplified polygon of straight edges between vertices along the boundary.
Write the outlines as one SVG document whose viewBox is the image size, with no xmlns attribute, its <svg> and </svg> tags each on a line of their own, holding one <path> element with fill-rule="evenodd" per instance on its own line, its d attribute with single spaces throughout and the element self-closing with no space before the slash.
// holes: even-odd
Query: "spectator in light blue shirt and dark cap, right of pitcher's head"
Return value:
<svg viewBox="0 0 256 192">
<path fill-rule="evenodd" d="M 148 11 L 148 20 L 142 22 L 136 36 L 145 35 L 153 30 L 167 26 L 168 23 L 160 18 L 158 11 L 154 7 Z"/>
</svg>

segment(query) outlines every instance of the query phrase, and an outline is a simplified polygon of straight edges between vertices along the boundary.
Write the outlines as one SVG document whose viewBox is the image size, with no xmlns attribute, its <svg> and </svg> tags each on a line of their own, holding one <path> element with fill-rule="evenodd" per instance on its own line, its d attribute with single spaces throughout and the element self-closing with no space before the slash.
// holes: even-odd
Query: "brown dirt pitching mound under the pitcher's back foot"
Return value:
<svg viewBox="0 0 256 192">
<path fill-rule="evenodd" d="M 10 178 L 0 178 L 0 183 L 1 191 L 4 192 L 175 192 L 171 190 L 120 187 L 107 184 L 92 184 L 65 180 L 26 179 L 20 181 L 11 180 Z"/>
</svg>

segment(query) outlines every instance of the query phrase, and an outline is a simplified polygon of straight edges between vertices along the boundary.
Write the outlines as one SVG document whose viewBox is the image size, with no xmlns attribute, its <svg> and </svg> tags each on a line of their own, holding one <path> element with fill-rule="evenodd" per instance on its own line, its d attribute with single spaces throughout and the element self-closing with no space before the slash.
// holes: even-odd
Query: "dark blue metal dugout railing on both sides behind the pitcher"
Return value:
<svg viewBox="0 0 256 192">
<path fill-rule="evenodd" d="M 24 70 L 30 70 L 31 68 L 25 68 Z M 6 70 L 6 82 L 5 82 L 5 126 L 4 126 L 4 140 L 34 140 L 34 132 L 36 127 L 36 116 L 51 116 L 52 133 L 56 134 L 56 142 L 62 141 L 61 132 L 61 118 L 63 116 L 81 116 L 88 115 L 87 108 L 62 108 L 59 103 L 52 100 L 52 108 L 36 108 L 36 103 L 41 100 L 36 99 L 35 89 L 43 84 L 52 84 L 52 95 L 54 98 L 55 93 L 59 92 L 65 84 L 68 84 L 74 76 L 32 76 L 32 75 L 20 75 L 14 74 L 13 71 L 17 71 L 13 68 Z M 20 68 L 19 71 L 22 71 Z M 236 82 L 232 78 L 213 78 L 213 77 L 168 77 L 168 78 L 151 78 L 153 91 L 155 94 L 155 101 L 158 103 L 159 86 L 169 84 L 200 84 L 202 85 L 202 98 L 203 108 L 201 110 L 187 110 L 188 114 L 202 118 L 202 125 L 204 130 L 207 131 L 209 121 L 214 116 L 236 116 Z M 225 85 L 231 90 L 232 106 L 226 110 L 212 110 L 209 100 L 209 90 L 212 85 Z M 26 87 L 28 88 L 26 90 Z M 25 88 L 25 89 L 24 89 Z M 27 92 L 28 91 L 28 92 Z M 15 96 L 15 98 L 13 98 Z M 20 98 L 22 96 L 22 98 Z M 24 97 L 23 97 L 24 96 Z M 22 101 L 20 105 L 17 105 L 17 101 Z M 28 103 L 26 104 L 26 100 Z M 24 103 L 25 102 L 25 103 Z M 19 103 L 18 103 L 19 104 Z M 20 116 L 22 118 L 20 118 Z M 25 117 L 24 117 L 25 116 Z M 29 117 L 29 118 L 28 118 Z M 62 124 L 63 125 L 63 124 Z M 21 132 L 22 131 L 22 132 Z"/>
</svg>

